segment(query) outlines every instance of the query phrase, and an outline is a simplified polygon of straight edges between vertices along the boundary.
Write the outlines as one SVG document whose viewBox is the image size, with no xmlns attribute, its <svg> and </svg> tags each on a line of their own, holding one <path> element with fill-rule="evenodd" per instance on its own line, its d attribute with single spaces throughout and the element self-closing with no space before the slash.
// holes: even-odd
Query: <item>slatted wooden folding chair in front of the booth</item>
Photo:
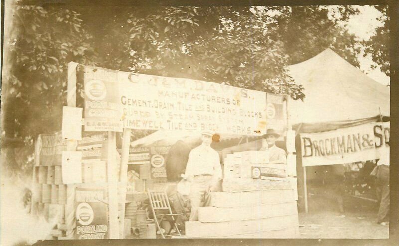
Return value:
<svg viewBox="0 0 399 246">
<path fill-rule="evenodd" d="M 154 221 L 157 228 L 164 239 L 165 237 L 172 236 L 182 236 L 178 226 L 176 225 L 176 220 L 179 216 L 183 214 L 172 213 L 171 205 L 169 204 L 168 196 L 166 192 L 156 192 L 148 190 L 148 198 L 150 200 L 151 210 L 153 212 Z M 161 230 L 162 221 L 167 220 L 171 224 L 171 228 L 168 232 L 163 233 Z M 176 234 L 171 234 L 172 229 L 176 229 Z"/>
</svg>

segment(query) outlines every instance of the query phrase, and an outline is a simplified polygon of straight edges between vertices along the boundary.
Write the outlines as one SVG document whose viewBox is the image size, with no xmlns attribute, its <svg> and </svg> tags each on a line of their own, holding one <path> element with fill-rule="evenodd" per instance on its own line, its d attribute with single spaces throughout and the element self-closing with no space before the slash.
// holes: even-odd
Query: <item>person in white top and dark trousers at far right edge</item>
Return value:
<svg viewBox="0 0 399 246">
<path fill-rule="evenodd" d="M 377 161 L 376 191 L 380 200 L 377 223 L 386 225 L 390 210 L 390 147 L 382 147 L 380 159 Z"/>
</svg>

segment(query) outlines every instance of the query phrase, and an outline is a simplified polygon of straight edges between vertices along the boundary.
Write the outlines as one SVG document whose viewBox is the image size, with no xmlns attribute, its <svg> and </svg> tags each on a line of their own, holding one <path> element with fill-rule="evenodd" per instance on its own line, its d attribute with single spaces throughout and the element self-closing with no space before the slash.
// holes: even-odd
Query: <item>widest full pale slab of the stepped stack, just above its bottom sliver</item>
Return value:
<svg viewBox="0 0 399 246">
<path fill-rule="evenodd" d="M 282 230 L 288 227 L 299 227 L 298 215 L 277 216 L 257 220 L 236 220 L 217 223 L 186 221 L 188 237 L 220 237 L 255 232 Z"/>
</svg>

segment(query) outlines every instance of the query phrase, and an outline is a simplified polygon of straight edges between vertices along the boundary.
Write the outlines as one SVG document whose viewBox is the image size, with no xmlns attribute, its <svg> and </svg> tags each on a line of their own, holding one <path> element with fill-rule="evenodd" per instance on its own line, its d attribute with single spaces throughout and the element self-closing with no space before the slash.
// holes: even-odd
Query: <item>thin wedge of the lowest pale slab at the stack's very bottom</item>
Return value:
<svg viewBox="0 0 399 246">
<path fill-rule="evenodd" d="M 190 237 L 184 236 L 184 238 L 190 238 Z M 275 231 L 254 232 L 254 233 L 247 233 L 247 234 L 218 236 L 218 237 L 196 237 L 196 238 L 230 238 L 230 239 L 235 239 L 235 238 L 241 238 L 241 239 L 245 239 L 245 238 L 256 238 L 256 239 L 299 238 L 299 227 L 293 226 L 293 227 L 287 227 L 287 228 L 284 228 L 281 230 L 275 230 Z"/>
</svg>

